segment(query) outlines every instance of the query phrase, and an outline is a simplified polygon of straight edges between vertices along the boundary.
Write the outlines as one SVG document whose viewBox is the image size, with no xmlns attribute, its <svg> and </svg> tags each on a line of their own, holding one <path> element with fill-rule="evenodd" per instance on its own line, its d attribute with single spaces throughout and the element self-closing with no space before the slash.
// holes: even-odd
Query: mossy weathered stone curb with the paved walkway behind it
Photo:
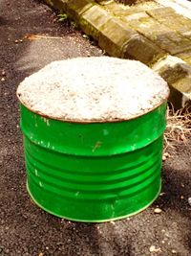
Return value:
<svg viewBox="0 0 191 256">
<path fill-rule="evenodd" d="M 157 71 L 169 83 L 173 105 L 191 100 L 191 19 L 165 7 L 168 1 L 177 7 L 179 0 L 131 8 L 114 0 L 45 1 L 66 12 L 110 56 L 138 59 Z"/>
</svg>

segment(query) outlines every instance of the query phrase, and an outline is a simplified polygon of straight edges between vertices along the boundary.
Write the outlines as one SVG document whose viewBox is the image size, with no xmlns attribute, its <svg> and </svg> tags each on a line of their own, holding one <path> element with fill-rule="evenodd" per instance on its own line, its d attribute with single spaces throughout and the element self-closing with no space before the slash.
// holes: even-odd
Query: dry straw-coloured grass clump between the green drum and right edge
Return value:
<svg viewBox="0 0 191 256">
<path fill-rule="evenodd" d="M 191 136 L 191 107 L 175 111 L 173 106 L 167 109 L 167 126 L 164 132 L 164 151 L 174 148 L 179 142 L 186 144 Z"/>
</svg>

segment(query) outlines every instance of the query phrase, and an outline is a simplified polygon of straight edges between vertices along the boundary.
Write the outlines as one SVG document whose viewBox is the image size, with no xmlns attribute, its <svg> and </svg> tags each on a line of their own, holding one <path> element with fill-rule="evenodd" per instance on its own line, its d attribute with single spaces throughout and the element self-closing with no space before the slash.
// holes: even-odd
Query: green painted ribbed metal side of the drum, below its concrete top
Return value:
<svg viewBox="0 0 191 256">
<path fill-rule="evenodd" d="M 166 102 L 116 123 L 68 123 L 21 105 L 32 199 L 55 216 L 111 221 L 150 205 L 160 191 Z"/>
</svg>

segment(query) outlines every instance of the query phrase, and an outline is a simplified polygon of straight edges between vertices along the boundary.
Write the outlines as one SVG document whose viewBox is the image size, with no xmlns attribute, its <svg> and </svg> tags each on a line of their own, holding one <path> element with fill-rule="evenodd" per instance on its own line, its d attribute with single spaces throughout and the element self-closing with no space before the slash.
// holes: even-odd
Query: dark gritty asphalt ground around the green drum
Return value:
<svg viewBox="0 0 191 256">
<path fill-rule="evenodd" d="M 4 0 L 0 10 L 0 255 L 189 256 L 191 140 L 169 151 L 159 199 L 130 219 L 101 224 L 64 221 L 32 203 L 26 191 L 16 87 L 52 60 L 101 52 L 78 32 L 58 24 L 53 12 L 38 1 Z M 15 42 L 26 34 L 58 38 Z M 159 214 L 154 213 L 157 205 Z"/>
</svg>

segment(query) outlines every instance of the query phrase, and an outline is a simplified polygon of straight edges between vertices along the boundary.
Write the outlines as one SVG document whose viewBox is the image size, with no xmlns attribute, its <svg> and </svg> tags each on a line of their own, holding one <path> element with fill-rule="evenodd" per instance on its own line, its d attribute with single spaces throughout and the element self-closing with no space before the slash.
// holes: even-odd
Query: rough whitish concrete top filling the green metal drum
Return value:
<svg viewBox="0 0 191 256">
<path fill-rule="evenodd" d="M 22 81 L 20 102 L 33 112 L 69 122 L 117 122 L 161 105 L 169 88 L 136 60 L 93 57 L 54 61 Z"/>
</svg>

